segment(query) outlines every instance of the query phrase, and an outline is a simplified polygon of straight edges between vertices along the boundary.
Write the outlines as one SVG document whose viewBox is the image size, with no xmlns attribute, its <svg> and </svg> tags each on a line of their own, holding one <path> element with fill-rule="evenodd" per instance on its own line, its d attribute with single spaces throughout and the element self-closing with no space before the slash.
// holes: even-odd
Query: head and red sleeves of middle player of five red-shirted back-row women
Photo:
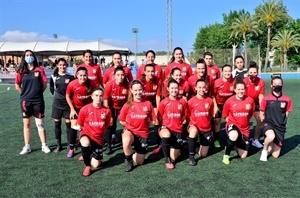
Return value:
<svg viewBox="0 0 300 198">
<path fill-rule="evenodd" d="M 136 79 L 140 79 L 142 77 L 142 75 L 144 74 L 144 71 L 145 71 L 145 66 L 148 65 L 148 64 L 153 64 L 154 65 L 154 69 L 155 69 L 155 73 L 154 75 L 161 81 L 164 80 L 164 72 L 161 68 L 160 65 L 157 65 L 154 63 L 155 61 L 155 52 L 153 50 L 148 50 L 146 52 L 146 60 L 147 60 L 147 63 L 145 65 L 141 65 L 137 71 L 137 74 L 136 74 Z"/>
</svg>

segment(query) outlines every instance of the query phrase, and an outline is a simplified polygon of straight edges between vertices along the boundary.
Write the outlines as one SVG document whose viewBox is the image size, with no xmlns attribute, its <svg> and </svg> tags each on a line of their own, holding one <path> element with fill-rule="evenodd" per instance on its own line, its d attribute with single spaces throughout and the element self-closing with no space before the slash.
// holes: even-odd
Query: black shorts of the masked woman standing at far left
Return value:
<svg viewBox="0 0 300 198">
<path fill-rule="evenodd" d="M 31 116 L 35 118 L 43 118 L 45 113 L 45 102 L 44 100 L 37 102 L 29 102 L 21 100 L 20 102 L 21 112 L 23 118 L 30 118 Z"/>
</svg>

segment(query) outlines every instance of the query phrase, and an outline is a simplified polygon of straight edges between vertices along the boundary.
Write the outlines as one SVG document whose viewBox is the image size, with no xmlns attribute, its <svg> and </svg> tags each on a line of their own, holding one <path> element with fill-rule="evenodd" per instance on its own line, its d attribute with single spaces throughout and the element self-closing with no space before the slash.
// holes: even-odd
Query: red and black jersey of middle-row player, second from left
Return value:
<svg viewBox="0 0 300 198">
<path fill-rule="evenodd" d="M 121 109 L 127 102 L 129 83 L 118 85 L 115 80 L 109 81 L 104 90 L 104 100 L 108 100 L 108 106 Z"/>
</svg>

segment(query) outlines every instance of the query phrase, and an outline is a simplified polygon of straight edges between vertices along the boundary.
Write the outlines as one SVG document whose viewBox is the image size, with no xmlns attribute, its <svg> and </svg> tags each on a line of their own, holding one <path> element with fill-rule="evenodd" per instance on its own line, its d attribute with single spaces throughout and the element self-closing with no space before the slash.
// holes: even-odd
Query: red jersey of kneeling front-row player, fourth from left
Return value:
<svg viewBox="0 0 300 198">
<path fill-rule="evenodd" d="M 208 132 L 211 130 L 210 121 L 213 113 L 213 100 L 207 96 L 202 99 L 194 96 L 188 101 L 189 123 L 195 125 L 200 131 Z"/>
</svg>

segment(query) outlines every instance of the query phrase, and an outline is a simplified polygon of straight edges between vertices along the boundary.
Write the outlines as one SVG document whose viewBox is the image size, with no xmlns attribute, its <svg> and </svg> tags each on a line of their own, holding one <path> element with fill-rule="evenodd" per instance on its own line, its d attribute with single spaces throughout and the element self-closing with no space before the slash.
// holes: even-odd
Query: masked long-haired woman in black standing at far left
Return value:
<svg viewBox="0 0 300 198">
<path fill-rule="evenodd" d="M 25 146 L 21 155 L 31 152 L 30 139 L 32 117 L 38 129 L 42 143 L 42 152 L 50 153 L 46 144 L 46 131 L 44 128 L 45 101 L 43 93 L 47 88 L 47 77 L 43 68 L 38 66 L 36 56 L 31 50 L 22 55 L 20 67 L 16 74 L 15 88 L 21 94 L 20 106 L 23 117 L 23 133 Z"/>
</svg>

